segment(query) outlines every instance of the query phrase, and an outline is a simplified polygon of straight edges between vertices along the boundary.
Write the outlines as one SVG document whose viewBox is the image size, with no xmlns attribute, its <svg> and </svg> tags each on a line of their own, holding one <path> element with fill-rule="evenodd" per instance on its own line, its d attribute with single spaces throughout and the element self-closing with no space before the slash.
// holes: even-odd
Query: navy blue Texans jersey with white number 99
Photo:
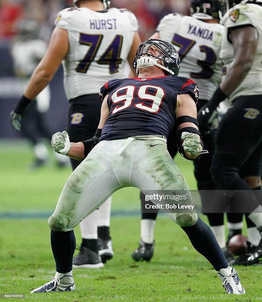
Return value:
<svg viewBox="0 0 262 302">
<path fill-rule="evenodd" d="M 138 135 L 169 136 L 175 127 L 178 94 L 189 94 L 197 103 L 197 84 L 184 77 L 113 79 L 100 89 L 109 108 L 101 140 Z"/>
</svg>

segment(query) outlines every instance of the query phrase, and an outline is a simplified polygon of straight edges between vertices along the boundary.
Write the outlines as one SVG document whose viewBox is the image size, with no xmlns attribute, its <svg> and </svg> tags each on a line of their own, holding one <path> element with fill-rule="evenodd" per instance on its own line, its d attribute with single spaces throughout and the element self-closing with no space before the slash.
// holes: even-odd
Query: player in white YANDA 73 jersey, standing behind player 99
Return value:
<svg viewBox="0 0 262 302">
<path fill-rule="evenodd" d="M 178 13 L 164 16 L 156 28 L 156 33 L 151 37 L 165 40 L 177 47 L 181 59 L 179 75 L 193 79 L 199 87 L 197 109 L 210 100 L 221 82 L 222 61 L 219 58 L 219 52 L 225 28 L 219 24 L 220 6 L 219 0 L 192 0 L 191 16 Z M 210 193 L 205 194 L 205 192 L 217 189 L 210 175 L 210 166 L 216 128 L 221 114 L 226 112 L 228 106 L 226 101 L 221 103 L 217 108 L 219 116 L 213 118 L 211 130 L 201 132 L 202 140 L 209 153 L 194 161 L 194 175 L 201 194 L 203 213 L 207 215 L 210 228 L 227 260 L 232 263 L 235 259 L 226 246 L 224 214 L 212 212 L 214 210 L 210 204 Z M 175 141 L 174 135 L 169 136 L 167 141 L 167 149 L 172 157 L 177 153 Z M 145 201 L 143 193 L 140 194 L 140 200 L 141 209 L 144 209 L 147 201 Z M 150 261 L 153 257 L 156 215 L 156 211 L 149 210 L 144 210 L 141 213 L 139 246 L 131 255 L 135 261 Z M 227 219 L 230 222 L 229 229 L 238 229 L 231 230 L 231 236 L 241 233 L 239 225 L 241 225 L 242 215 L 228 214 Z"/>
</svg>

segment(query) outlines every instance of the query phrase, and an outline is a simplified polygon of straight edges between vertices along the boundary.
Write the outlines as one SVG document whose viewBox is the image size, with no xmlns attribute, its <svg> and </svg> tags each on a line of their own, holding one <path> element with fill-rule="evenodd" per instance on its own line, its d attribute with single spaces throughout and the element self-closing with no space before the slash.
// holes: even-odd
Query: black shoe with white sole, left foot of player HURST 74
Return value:
<svg viewBox="0 0 262 302">
<path fill-rule="evenodd" d="M 98 252 L 81 245 L 80 252 L 73 258 L 73 268 L 100 268 L 103 262 Z"/>
</svg>

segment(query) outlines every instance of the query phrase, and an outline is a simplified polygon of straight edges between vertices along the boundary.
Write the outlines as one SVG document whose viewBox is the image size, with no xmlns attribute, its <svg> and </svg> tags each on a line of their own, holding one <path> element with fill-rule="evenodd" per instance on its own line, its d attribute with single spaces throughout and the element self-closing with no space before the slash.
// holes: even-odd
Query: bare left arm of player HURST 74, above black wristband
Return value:
<svg viewBox="0 0 262 302">
<path fill-rule="evenodd" d="M 24 91 L 25 97 L 30 100 L 36 98 L 52 80 L 67 52 L 68 32 L 65 29 L 55 27 L 46 54 L 33 72 Z"/>
</svg>

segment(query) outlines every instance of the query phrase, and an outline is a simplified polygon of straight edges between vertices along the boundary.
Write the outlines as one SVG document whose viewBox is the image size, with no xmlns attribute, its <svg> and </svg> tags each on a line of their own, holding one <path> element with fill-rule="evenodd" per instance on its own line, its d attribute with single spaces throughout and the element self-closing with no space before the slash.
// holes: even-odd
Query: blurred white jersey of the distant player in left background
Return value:
<svg viewBox="0 0 262 302">
<path fill-rule="evenodd" d="M 15 41 L 11 53 L 17 76 L 30 77 L 43 58 L 46 49 L 46 42 L 40 39 Z"/>
</svg>

